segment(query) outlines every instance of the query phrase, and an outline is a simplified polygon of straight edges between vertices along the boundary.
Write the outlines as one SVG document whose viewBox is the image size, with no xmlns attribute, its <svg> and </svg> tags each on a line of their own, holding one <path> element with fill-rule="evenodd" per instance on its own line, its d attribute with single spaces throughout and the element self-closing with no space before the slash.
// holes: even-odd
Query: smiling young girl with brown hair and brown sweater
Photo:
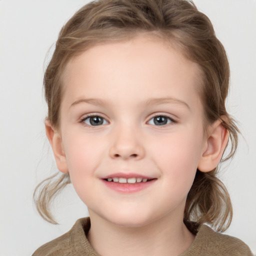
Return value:
<svg viewBox="0 0 256 256">
<path fill-rule="evenodd" d="M 216 232 L 232 218 L 216 177 L 237 144 L 228 81 L 224 48 L 190 1 L 78 10 L 44 75 L 46 134 L 62 175 L 35 194 L 54 222 L 49 202 L 71 182 L 90 217 L 33 255 L 252 255 Z"/>
</svg>

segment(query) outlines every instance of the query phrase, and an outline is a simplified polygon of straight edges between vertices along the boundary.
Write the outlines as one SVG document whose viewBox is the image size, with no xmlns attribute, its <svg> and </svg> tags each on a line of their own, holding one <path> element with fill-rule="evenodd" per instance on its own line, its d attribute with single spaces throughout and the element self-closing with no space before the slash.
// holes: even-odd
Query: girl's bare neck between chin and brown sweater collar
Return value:
<svg viewBox="0 0 256 256">
<path fill-rule="evenodd" d="M 194 240 L 182 219 L 157 219 L 139 227 L 124 227 L 90 214 L 88 240 L 103 256 L 178 255 Z"/>
</svg>

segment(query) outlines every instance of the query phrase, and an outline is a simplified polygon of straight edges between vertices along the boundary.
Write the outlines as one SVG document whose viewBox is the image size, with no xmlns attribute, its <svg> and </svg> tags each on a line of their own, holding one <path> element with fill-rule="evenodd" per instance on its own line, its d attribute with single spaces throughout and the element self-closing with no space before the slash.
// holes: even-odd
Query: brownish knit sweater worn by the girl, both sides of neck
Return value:
<svg viewBox="0 0 256 256">
<path fill-rule="evenodd" d="M 32 256 L 99 256 L 86 238 L 89 228 L 89 217 L 80 218 L 68 232 L 45 243 Z M 252 253 L 241 240 L 201 225 L 191 246 L 180 256 L 205 255 L 252 256 Z"/>
</svg>

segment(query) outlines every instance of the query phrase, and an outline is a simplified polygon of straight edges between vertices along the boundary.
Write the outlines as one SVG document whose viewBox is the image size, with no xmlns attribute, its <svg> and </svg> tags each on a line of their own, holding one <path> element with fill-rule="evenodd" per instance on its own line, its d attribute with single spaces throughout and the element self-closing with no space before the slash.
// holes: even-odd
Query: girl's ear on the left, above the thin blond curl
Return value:
<svg viewBox="0 0 256 256">
<path fill-rule="evenodd" d="M 66 173 L 68 172 L 68 168 L 67 168 L 65 153 L 62 147 L 61 136 L 59 132 L 55 128 L 53 128 L 49 120 L 45 120 L 44 125 L 45 125 L 47 138 L 50 142 L 50 145 L 55 157 L 57 168 L 61 172 Z"/>
</svg>

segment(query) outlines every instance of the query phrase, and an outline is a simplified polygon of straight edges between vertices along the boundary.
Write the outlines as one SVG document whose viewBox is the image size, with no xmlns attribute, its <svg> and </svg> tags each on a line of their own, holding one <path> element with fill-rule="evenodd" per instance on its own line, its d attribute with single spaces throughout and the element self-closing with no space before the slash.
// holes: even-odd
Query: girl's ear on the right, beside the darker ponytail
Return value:
<svg viewBox="0 0 256 256">
<path fill-rule="evenodd" d="M 205 139 L 204 148 L 197 166 L 200 171 L 211 171 L 218 165 L 227 145 L 228 136 L 229 132 L 222 125 L 221 120 L 215 121 L 209 127 L 209 132 Z"/>
</svg>

